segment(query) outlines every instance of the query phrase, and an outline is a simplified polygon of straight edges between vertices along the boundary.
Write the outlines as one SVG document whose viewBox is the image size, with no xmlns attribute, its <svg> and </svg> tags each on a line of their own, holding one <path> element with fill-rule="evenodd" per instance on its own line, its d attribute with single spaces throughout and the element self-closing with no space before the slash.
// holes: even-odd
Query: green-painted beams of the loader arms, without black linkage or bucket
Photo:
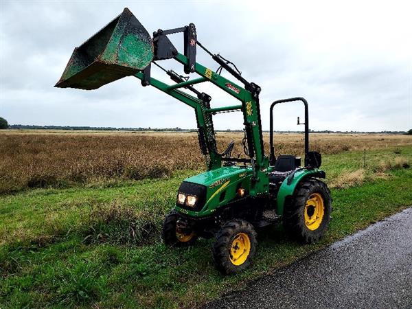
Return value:
<svg viewBox="0 0 412 309">
<path fill-rule="evenodd" d="M 183 54 L 177 54 L 174 59 L 182 65 L 187 65 L 189 62 L 188 58 Z M 194 108 L 199 135 L 204 135 L 204 139 L 199 139 L 201 149 L 203 148 L 202 140 L 204 140 L 205 148 L 207 148 L 207 154 L 209 155 L 209 170 L 220 168 L 222 166 L 222 159 L 225 160 L 225 158 L 222 158 L 216 150 L 216 140 L 214 137 L 214 128 L 213 122 L 211 121 L 211 115 L 225 111 L 242 111 L 244 126 L 247 132 L 250 159 L 232 159 L 234 161 L 251 163 L 254 170 L 252 180 L 255 184 L 255 193 L 258 194 L 261 192 L 266 192 L 268 180 L 265 172 L 268 168 L 268 158 L 264 156 L 258 93 L 247 91 L 238 84 L 231 82 L 231 80 L 228 80 L 220 74 L 211 71 L 211 69 L 204 67 L 198 62 L 194 63 L 194 71 L 198 73 L 199 76 L 202 76 L 202 78 L 178 82 L 172 85 L 165 84 L 164 82 L 152 77 L 150 77 L 150 79 L 146 78 L 146 81 L 152 87 L 155 87 L 156 89 L 159 89 L 160 91 L 163 91 L 164 93 L 171 95 L 173 98 L 176 98 L 177 100 Z M 142 81 L 145 80 L 144 72 L 135 74 L 135 77 Z M 239 100 L 240 104 L 211 108 L 208 100 L 199 99 L 205 98 L 210 100 L 210 97 L 205 93 L 201 93 L 201 95 L 198 95 L 199 98 L 195 98 L 194 96 L 183 91 L 179 91 L 179 88 L 191 87 L 193 84 L 198 84 L 199 82 L 211 82 L 216 85 L 216 87 L 222 89 L 223 91 L 229 93 L 229 95 Z M 259 91 L 258 87 L 257 90 Z M 204 152 L 204 154 L 206 153 Z"/>
</svg>

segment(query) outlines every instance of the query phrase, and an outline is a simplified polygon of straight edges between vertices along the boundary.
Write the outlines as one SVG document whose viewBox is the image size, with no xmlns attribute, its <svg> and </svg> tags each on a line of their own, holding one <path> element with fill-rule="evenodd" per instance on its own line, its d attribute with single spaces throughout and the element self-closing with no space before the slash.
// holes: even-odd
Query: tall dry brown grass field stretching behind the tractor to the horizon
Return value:
<svg viewBox="0 0 412 309">
<path fill-rule="evenodd" d="M 222 152 L 233 139 L 232 155 L 243 154 L 242 133 L 218 133 Z M 268 150 L 268 135 L 264 135 Z M 312 135 L 311 148 L 323 154 L 412 144 L 402 135 Z M 275 135 L 277 153 L 300 154 L 303 136 Z M 169 176 L 175 170 L 205 167 L 196 133 L 0 133 L 0 193 L 28 187 L 66 186 L 108 179 Z"/>
</svg>

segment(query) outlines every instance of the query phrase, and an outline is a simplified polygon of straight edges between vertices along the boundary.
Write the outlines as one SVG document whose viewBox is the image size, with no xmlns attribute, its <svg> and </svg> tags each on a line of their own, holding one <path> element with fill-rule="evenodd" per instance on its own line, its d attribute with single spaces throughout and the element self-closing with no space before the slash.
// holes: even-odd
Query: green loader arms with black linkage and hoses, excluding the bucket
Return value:
<svg viewBox="0 0 412 309">
<path fill-rule="evenodd" d="M 216 170 L 217 168 L 221 168 L 222 161 L 250 163 L 253 170 L 253 176 L 251 177 L 249 194 L 251 196 L 265 194 L 268 192 L 267 169 L 269 161 L 268 157 L 265 157 L 264 155 L 259 104 L 259 93 L 261 89 L 257 84 L 248 82 L 240 75 L 240 73 L 233 70 L 233 68 L 225 60 L 223 60 L 224 58 L 211 54 L 198 41 L 191 41 L 192 38 L 187 37 L 188 29 L 190 30 L 191 36 L 196 38 L 196 30 L 194 24 L 192 23 L 188 26 L 173 30 L 158 30 L 155 32 L 153 38 L 153 41 L 155 42 L 155 59 L 165 60 L 172 58 L 185 67 L 185 72 L 197 73 L 201 76 L 200 78 L 183 80 L 183 77 L 177 75 L 173 71 L 167 71 L 170 78 L 176 83 L 165 84 L 156 78 L 150 77 L 150 66 L 148 69 L 137 73 L 135 77 L 141 80 L 143 86 L 151 85 L 152 87 L 155 87 L 156 89 L 159 89 L 160 91 L 163 91 L 164 93 L 171 95 L 173 98 L 176 98 L 184 104 L 194 108 L 198 126 L 199 144 L 203 155 L 209 156 L 209 162 L 207 163 L 208 170 Z M 177 52 L 168 38 L 164 37 L 168 34 L 175 34 L 178 32 L 183 32 L 185 35 L 185 54 L 188 56 Z M 162 45 L 161 47 L 156 47 L 156 43 L 159 41 L 162 41 Z M 205 49 L 205 51 L 209 53 L 223 69 L 226 69 L 229 73 L 231 73 L 231 75 L 240 80 L 240 82 L 244 84 L 244 87 L 239 86 L 231 80 L 221 76 L 219 73 L 212 71 L 211 69 L 196 62 L 196 60 L 194 60 L 196 55 L 196 45 L 200 45 L 203 49 Z M 172 52 L 165 52 L 170 50 L 172 50 Z M 161 56 L 159 56 L 159 54 Z M 231 95 L 233 98 L 239 100 L 240 104 L 211 108 L 211 97 L 206 93 L 196 91 L 193 87 L 194 84 L 199 84 L 201 82 L 211 82 L 216 87 Z M 197 98 L 179 89 L 188 89 L 195 93 Z M 247 134 L 249 159 L 225 157 L 224 155 L 218 153 L 218 150 L 216 149 L 212 115 L 230 111 L 241 111 L 243 114 L 244 130 Z"/>
</svg>

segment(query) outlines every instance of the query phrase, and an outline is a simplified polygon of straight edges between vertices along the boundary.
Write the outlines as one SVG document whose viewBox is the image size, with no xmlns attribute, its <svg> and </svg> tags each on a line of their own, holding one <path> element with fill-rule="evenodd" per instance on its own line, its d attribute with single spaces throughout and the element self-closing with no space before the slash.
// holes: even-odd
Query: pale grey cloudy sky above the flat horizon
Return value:
<svg viewBox="0 0 412 309">
<path fill-rule="evenodd" d="M 203 45 L 262 87 L 265 130 L 271 102 L 292 96 L 308 100 L 314 130 L 409 130 L 409 3 L 0 0 L 0 116 L 10 124 L 195 128 L 192 109 L 133 77 L 95 91 L 53 87 L 73 48 L 127 6 L 149 33 L 195 23 Z M 180 35 L 172 41 L 181 48 Z M 217 68 L 200 50 L 198 62 Z M 181 69 L 172 60 L 161 65 Z M 213 106 L 233 103 L 218 89 L 198 88 Z M 279 130 L 296 130 L 303 116 L 299 104 L 275 111 Z M 242 128 L 242 117 L 216 115 L 215 124 Z"/>
</svg>

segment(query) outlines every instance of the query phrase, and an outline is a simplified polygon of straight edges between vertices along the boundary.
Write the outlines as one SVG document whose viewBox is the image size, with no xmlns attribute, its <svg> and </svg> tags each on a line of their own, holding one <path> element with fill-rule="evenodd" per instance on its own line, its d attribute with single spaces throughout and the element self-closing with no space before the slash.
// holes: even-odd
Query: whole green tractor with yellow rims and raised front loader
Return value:
<svg viewBox="0 0 412 309">
<path fill-rule="evenodd" d="M 183 54 L 168 38 L 183 33 Z M 218 63 L 212 71 L 196 62 L 197 47 Z M 181 76 L 159 65 L 173 59 L 183 65 Z M 173 81 L 166 84 L 150 76 L 151 65 L 165 71 Z M 242 86 L 222 76 L 230 73 Z M 176 196 L 176 206 L 163 223 L 163 240 L 170 246 L 185 247 L 199 237 L 213 238 L 213 258 L 221 273 L 247 268 L 258 245 L 256 229 L 283 223 L 293 238 L 311 243 L 319 240 L 330 222 L 331 198 L 319 179 L 321 155 L 309 151 L 308 103 L 304 98 L 278 100 L 270 108 L 270 155 L 264 153 L 260 120 L 260 87 L 248 82 L 233 62 L 212 54 L 197 38 L 193 23 L 171 30 L 157 30 L 150 36 L 136 17 L 124 9 L 74 52 L 56 87 L 98 89 L 125 76 L 135 76 L 144 87 L 152 86 L 194 109 L 198 142 L 207 158 L 207 172 L 185 179 Z M 233 106 L 212 107 L 211 97 L 196 90 L 195 84 L 209 82 L 239 101 Z M 273 107 L 301 101 L 305 108 L 305 158 L 293 155 L 275 157 Z M 232 157 L 233 141 L 218 152 L 213 124 L 217 113 L 239 111 L 244 120 L 244 157 Z M 299 124 L 299 118 L 298 118 Z M 182 158 L 183 159 L 183 158 Z"/>
</svg>

